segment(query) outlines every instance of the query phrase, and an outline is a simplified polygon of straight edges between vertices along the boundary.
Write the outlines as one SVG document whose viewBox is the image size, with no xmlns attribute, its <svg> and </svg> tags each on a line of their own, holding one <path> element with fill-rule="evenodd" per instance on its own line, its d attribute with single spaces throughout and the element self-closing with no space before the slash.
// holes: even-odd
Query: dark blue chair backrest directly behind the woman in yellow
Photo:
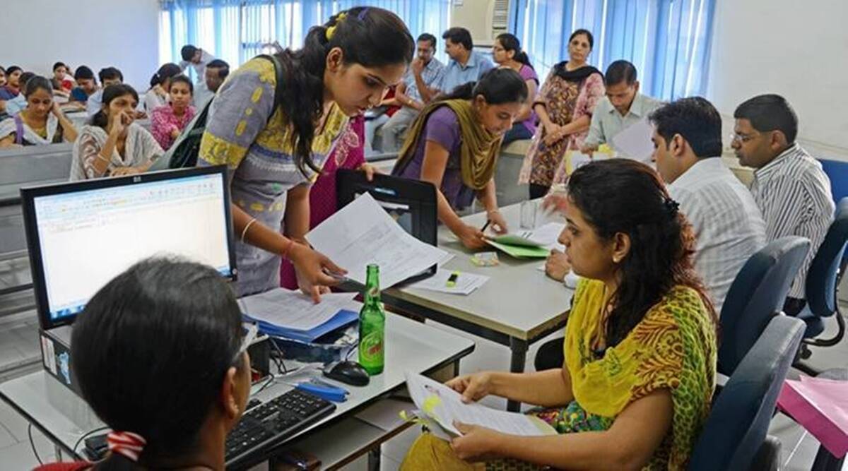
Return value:
<svg viewBox="0 0 848 471">
<path fill-rule="evenodd" d="M 751 468 L 803 334 L 800 319 L 772 318 L 714 402 L 689 459 L 690 471 Z"/>
</svg>

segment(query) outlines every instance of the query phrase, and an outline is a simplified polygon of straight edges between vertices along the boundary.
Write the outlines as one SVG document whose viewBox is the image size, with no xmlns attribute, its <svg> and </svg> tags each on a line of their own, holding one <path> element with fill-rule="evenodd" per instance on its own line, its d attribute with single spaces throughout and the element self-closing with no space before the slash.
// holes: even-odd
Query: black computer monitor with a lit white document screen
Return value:
<svg viewBox="0 0 848 471">
<path fill-rule="evenodd" d="M 144 258 L 187 258 L 236 278 L 226 165 L 28 187 L 20 196 L 44 330 L 72 323 Z"/>
</svg>

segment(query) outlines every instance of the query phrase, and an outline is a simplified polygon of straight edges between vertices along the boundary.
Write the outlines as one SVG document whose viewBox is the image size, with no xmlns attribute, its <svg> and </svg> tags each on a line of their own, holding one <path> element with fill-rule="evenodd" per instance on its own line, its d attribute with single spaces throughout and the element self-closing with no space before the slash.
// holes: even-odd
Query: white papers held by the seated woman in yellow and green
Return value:
<svg viewBox="0 0 848 471">
<path fill-rule="evenodd" d="M 549 424 L 533 416 L 499 411 L 476 402 L 466 404 L 462 402 L 460 393 L 446 385 L 410 371 L 407 371 L 405 376 L 412 401 L 421 413 L 432 418 L 449 434 L 461 435 L 454 426 L 455 421 L 480 425 L 510 435 L 538 436 L 556 433 Z"/>
</svg>

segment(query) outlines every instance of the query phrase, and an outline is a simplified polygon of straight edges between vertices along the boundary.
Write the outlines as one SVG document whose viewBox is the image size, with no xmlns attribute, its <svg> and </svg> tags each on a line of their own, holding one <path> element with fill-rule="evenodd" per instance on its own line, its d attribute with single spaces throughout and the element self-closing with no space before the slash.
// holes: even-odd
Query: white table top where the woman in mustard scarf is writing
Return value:
<svg viewBox="0 0 848 471">
<path fill-rule="evenodd" d="M 520 206 L 501 208 L 510 230 L 519 229 Z M 463 220 L 483 227 L 486 214 L 472 214 Z M 409 287 L 392 288 L 387 294 L 526 341 L 561 322 L 568 311 L 574 291 L 538 269 L 544 258 L 517 259 L 498 252 L 498 266 L 477 267 L 471 263 L 473 252 L 462 247 L 444 225 L 438 228 L 438 247 L 454 254 L 441 269 L 485 274 L 490 279 L 468 296 Z M 494 247 L 490 250 L 497 252 Z"/>
</svg>

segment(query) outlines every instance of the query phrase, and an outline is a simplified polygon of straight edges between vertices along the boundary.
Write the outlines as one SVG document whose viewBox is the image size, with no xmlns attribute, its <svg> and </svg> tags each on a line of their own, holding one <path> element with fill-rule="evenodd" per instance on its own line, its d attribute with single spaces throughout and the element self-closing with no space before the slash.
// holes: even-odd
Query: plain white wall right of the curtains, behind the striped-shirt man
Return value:
<svg viewBox="0 0 848 471">
<path fill-rule="evenodd" d="M 848 160 L 848 1 L 717 0 L 707 97 L 730 117 L 745 99 L 786 97 L 801 143 Z"/>
</svg>

